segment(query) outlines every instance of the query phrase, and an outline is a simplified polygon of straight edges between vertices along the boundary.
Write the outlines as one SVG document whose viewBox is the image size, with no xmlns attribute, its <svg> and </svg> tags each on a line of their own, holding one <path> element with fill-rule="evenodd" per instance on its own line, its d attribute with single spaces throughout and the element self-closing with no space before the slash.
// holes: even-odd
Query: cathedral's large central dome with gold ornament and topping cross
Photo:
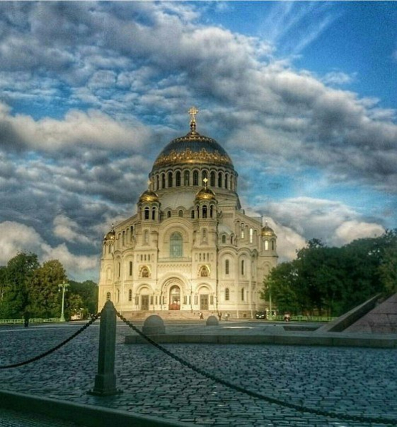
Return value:
<svg viewBox="0 0 397 427">
<path fill-rule="evenodd" d="M 155 159 L 153 169 L 177 164 L 214 164 L 234 169 L 229 155 L 215 139 L 196 132 L 194 116 L 190 122 L 190 132 L 184 137 L 172 139 Z"/>
</svg>

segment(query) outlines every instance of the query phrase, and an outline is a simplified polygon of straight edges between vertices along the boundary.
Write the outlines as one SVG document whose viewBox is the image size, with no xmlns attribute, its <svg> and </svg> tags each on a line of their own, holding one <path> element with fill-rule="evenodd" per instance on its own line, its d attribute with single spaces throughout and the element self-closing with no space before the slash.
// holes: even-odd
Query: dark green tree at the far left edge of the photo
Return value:
<svg viewBox="0 0 397 427">
<path fill-rule="evenodd" d="M 29 310 L 29 289 L 34 272 L 40 266 L 35 253 L 18 253 L 11 258 L 6 268 L 6 285 L 0 305 L 4 318 L 24 317 Z"/>
</svg>

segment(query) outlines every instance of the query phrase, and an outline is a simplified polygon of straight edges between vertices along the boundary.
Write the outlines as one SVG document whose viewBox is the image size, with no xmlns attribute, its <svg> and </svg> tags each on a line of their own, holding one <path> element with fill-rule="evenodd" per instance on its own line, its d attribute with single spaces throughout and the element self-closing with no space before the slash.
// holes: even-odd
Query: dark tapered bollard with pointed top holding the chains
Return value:
<svg viewBox="0 0 397 427">
<path fill-rule="evenodd" d="M 120 391 L 115 388 L 115 326 L 116 315 L 113 302 L 107 301 L 100 313 L 98 374 L 93 390 L 88 394 L 112 396 Z"/>
</svg>

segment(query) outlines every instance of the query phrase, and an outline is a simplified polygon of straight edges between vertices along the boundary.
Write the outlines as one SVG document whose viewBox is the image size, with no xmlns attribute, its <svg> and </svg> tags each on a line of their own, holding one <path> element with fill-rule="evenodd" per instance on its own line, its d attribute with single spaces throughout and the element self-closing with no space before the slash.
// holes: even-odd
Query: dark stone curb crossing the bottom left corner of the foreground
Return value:
<svg viewBox="0 0 397 427">
<path fill-rule="evenodd" d="M 75 404 L 48 397 L 0 390 L 0 408 L 19 412 L 38 413 L 65 421 L 73 421 L 84 427 L 189 427 L 190 423 L 165 421 L 154 416 L 142 416 L 117 409 L 85 404 Z"/>
</svg>

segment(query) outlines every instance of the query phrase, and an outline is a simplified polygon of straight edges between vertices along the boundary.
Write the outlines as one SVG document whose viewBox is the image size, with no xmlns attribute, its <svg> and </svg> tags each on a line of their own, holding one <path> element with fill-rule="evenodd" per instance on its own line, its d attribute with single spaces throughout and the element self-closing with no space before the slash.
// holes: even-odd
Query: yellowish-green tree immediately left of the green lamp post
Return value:
<svg viewBox="0 0 397 427">
<path fill-rule="evenodd" d="M 66 280 L 66 272 L 58 260 L 49 260 L 36 269 L 29 288 L 32 317 L 58 317 L 61 298 L 58 285 Z"/>
</svg>

